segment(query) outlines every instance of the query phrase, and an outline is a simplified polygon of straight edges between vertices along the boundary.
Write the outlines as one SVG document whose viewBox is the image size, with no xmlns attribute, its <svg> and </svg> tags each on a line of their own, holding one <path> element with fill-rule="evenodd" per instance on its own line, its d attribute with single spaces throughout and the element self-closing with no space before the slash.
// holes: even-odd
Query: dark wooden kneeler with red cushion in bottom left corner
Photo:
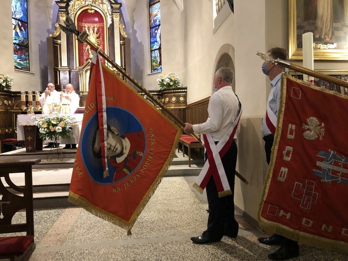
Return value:
<svg viewBox="0 0 348 261">
<path fill-rule="evenodd" d="M 28 260 L 35 249 L 32 166 L 39 162 L 40 159 L 11 161 L 0 157 L 0 177 L 4 177 L 7 186 L 18 193 L 10 192 L 0 179 L 0 233 L 26 232 L 26 235 L 0 237 L 0 259 Z M 25 185 L 17 186 L 10 174 L 23 172 Z M 22 209 L 26 211 L 26 222 L 12 224 L 13 216 Z"/>
</svg>

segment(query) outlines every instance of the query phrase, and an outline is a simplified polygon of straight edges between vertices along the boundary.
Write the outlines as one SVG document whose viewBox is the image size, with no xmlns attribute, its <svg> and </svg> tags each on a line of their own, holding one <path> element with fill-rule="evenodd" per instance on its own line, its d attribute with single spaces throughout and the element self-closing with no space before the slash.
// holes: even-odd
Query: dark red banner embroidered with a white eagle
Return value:
<svg viewBox="0 0 348 261">
<path fill-rule="evenodd" d="M 281 95 L 260 226 L 348 252 L 348 96 L 288 75 Z"/>
</svg>

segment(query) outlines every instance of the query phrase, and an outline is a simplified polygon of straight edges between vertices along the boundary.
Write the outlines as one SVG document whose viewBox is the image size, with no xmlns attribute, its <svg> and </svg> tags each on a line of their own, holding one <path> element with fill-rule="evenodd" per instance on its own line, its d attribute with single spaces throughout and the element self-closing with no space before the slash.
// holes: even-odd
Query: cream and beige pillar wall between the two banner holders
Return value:
<svg viewBox="0 0 348 261">
<path fill-rule="evenodd" d="M 261 71 L 263 61 L 256 55 L 266 48 L 265 6 L 265 0 L 235 1 L 236 93 L 243 104 L 237 170 L 249 182 L 246 185 L 236 178 L 235 204 L 255 223 L 267 172 L 261 134 L 267 76 Z"/>
</svg>

